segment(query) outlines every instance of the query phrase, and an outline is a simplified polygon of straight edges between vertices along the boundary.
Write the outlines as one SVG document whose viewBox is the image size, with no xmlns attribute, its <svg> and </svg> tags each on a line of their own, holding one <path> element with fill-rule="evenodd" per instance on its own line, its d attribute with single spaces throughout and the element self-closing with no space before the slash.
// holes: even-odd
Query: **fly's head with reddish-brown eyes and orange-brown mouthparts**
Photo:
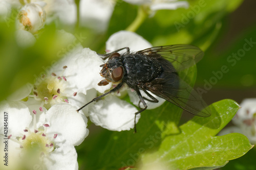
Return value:
<svg viewBox="0 0 256 170">
<path fill-rule="evenodd" d="M 99 86 L 108 85 L 109 82 L 118 83 L 123 79 L 123 66 L 119 53 L 113 53 L 110 55 L 108 62 L 100 65 L 102 67 L 100 76 L 105 79 L 98 83 Z"/>
</svg>

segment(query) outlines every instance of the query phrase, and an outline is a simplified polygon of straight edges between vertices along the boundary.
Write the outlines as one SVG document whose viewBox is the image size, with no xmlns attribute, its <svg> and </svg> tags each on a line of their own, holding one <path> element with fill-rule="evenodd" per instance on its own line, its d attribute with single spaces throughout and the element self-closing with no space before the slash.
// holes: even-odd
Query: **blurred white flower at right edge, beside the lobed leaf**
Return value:
<svg viewBox="0 0 256 170">
<path fill-rule="evenodd" d="M 220 135 L 242 133 L 252 144 L 256 144 L 256 99 L 245 99 L 240 106 L 241 109 L 232 119 L 236 126 L 225 128 Z"/>
</svg>

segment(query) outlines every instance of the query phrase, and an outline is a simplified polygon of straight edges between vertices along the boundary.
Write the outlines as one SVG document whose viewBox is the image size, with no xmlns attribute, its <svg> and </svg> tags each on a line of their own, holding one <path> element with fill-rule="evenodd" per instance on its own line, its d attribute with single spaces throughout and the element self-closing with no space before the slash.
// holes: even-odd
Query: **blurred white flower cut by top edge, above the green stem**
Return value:
<svg viewBox="0 0 256 170">
<path fill-rule="evenodd" d="M 188 8 L 189 4 L 186 1 L 177 0 L 123 0 L 127 3 L 136 5 L 149 6 L 152 11 L 157 10 L 176 10 L 178 8 Z"/>
</svg>

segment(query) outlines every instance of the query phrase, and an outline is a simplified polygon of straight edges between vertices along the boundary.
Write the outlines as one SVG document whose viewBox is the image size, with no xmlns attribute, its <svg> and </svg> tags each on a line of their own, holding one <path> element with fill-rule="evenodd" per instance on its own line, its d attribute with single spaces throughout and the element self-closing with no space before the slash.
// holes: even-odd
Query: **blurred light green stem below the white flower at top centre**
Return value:
<svg viewBox="0 0 256 170">
<path fill-rule="evenodd" d="M 145 11 L 145 8 L 143 8 L 143 6 L 140 6 L 136 18 L 125 30 L 135 32 L 140 27 L 142 22 L 146 19 L 146 17 L 147 12 Z"/>
</svg>

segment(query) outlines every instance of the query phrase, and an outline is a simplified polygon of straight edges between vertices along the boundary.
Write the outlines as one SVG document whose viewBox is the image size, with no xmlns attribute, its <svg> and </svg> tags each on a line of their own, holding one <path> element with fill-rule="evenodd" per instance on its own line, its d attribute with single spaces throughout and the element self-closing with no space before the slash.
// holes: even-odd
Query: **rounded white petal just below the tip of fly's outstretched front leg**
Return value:
<svg viewBox="0 0 256 170">
<path fill-rule="evenodd" d="M 54 139 L 58 145 L 78 145 L 88 136 L 87 118 L 84 122 L 82 115 L 77 113 L 76 108 L 69 104 L 52 106 L 48 110 L 46 118 L 50 124 L 47 134 L 52 139 L 54 134 L 58 134 Z"/>
</svg>

